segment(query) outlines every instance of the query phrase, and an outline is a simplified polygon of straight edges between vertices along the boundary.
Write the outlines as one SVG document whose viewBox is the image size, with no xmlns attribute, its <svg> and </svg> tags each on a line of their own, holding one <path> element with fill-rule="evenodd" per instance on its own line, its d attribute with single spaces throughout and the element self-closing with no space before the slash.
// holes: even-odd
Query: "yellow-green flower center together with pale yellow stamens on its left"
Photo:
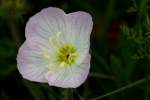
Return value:
<svg viewBox="0 0 150 100">
<path fill-rule="evenodd" d="M 56 36 L 49 37 L 50 46 L 55 49 L 54 58 L 55 62 L 52 63 L 50 55 L 47 49 L 41 48 L 43 53 L 43 57 L 47 59 L 50 63 L 50 66 L 58 66 L 60 67 L 67 67 L 71 66 L 72 64 L 76 63 L 78 54 L 77 48 L 75 48 L 71 43 L 64 43 L 64 41 L 60 38 L 61 32 L 56 33 Z"/>
</svg>

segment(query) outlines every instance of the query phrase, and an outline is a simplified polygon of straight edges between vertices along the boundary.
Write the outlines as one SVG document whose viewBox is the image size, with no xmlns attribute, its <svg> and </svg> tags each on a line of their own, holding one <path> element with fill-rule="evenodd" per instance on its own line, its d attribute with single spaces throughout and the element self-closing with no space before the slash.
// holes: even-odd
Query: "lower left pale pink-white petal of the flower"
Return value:
<svg viewBox="0 0 150 100">
<path fill-rule="evenodd" d="M 17 66 L 25 79 L 47 82 L 44 77 L 47 72 L 47 62 L 41 55 L 41 52 L 34 50 L 26 42 L 20 47 L 17 55 Z"/>
</svg>

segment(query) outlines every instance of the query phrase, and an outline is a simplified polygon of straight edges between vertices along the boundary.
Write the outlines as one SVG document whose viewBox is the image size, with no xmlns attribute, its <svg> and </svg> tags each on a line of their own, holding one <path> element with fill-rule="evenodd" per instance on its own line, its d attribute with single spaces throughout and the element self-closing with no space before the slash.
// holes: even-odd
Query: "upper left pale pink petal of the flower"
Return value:
<svg viewBox="0 0 150 100">
<path fill-rule="evenodd" d="M 26 25 L 26 38 L 39 36 L 48 39 L 58 32 L 66 34 L 65 16 L 64 11 L 59 8 L 49 7 L 43 9 L 28 21 Z"/>
</svg>

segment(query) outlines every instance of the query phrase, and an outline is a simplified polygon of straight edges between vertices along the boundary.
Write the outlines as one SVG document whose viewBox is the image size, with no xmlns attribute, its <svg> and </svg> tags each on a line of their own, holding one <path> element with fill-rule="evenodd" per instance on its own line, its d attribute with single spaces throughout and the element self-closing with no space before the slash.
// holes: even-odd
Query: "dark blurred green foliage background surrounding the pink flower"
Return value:
<svg viewBox="0 0 150 100">
<path fill-rule="evenodd" d="M 0 0 L 0 100 L 150 100 L 149 1 Z M 50 6 L 93 17 L 91 70 L 77 89 L 30 82 L 17 70 L 28 19 Z M 124 91 L 96 98 L 128 84 Z"/>
</svg>

